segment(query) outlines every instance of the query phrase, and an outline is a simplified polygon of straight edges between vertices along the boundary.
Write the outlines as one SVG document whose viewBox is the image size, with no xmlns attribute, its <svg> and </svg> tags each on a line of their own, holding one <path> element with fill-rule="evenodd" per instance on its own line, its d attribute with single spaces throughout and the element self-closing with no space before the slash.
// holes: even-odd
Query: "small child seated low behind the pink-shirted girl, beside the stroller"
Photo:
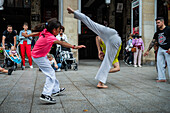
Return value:
<svg viewBox="0 0 170 113">
<path fill-rule="evenodd" d="M 47 58 L 49 59 L 50 64 L 51 64 L 51 66 L 53 67 L 53 69 L 55 71 L 61 71 L 61 69 L 60 69 L 61 68 L 61 63 L 57 64 L 55 58 L 51 54 L 48 54 Z"/>
</svg>

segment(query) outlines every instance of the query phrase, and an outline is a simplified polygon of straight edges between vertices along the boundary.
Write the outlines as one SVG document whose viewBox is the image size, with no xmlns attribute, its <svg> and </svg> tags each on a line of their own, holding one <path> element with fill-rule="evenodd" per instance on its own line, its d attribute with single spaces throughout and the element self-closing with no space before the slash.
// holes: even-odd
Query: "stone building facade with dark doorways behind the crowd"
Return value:
<svg viewBox="0 0 170 113">
<path fill-rule="evenodd" d="M 22 1 L 22 3 L 17 3 L 17 1 Z M 106 1 L 109 3 L 106 3 Z M 97 48 L 94 40 L 96 35 L 90 32 L 81 22 L 74 19 L 73 15 L 67 13 L 66 9 L 70 6 L 73 9 L 80 9 L 98 23 L 102 23 L 104 20 L 108 21 L 109 27 L 119 32 L 123 41 L 120 53 L 120 59 L 122 59 L 127 37 L 133 28 L 132 4 L 134 2 L 139 2 L 140 17 L 138 22 L 146 51 L 154 32 L 157 30 L 155 18 L 163 15 L 166 17 L 166 24 L 170 25 L 169 0 L 26 0 L 24 2 L 23 0 L 13 0 L 14 4 L 10 5 L 6 0 L 4 1 L 4 10 L 0 11 L 0 13 L 2 12 L 0 24 L 4 29 L 7 24 L 12 24 L 14 28 L 20 30 L 24 21 L 28 21 L 30 28 L 33 28 L 50 17 L 56 17 L 65 27 L 65 34 L 68 36 L 69 43 L 87 45 L 87 49 L 81 50 L 79 53 L 78 50 L 73 50 L 74 57 L 77 60 L 79 58 L 97 59 Z M 27 16 L 25 16 L 24 11 L 26 11 Z M 160 12 L 162 11 L 165 12 L 161 15 Z M 152 50 L 148 57 L 143 57 L 143 61 L 147 63 L 154 61 L 154 58 Z"/>
</svg>

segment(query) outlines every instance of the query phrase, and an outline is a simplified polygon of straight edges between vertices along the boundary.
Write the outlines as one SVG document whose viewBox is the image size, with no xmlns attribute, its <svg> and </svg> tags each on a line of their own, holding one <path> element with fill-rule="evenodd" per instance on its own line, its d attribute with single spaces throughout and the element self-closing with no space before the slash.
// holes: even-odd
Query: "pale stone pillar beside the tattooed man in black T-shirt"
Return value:
<svg viewBox="0 0 170 113">
<path fill-rule="evenodd" d="M 154 0 L 142 0 L 142 36 L 143 36 L 143 41 L 145 44 L 145 50 L 147 50 L 151 40 L 153 39 L 154 35 L 154 20 L 155 20 L 155 15 L 154 15 Z M 155 55 L 154 55 L 154 50 L 150 50 L 150 53 L 147 57 L 143 57 L 144 63 L 154 61 Z"/>
</svg>

